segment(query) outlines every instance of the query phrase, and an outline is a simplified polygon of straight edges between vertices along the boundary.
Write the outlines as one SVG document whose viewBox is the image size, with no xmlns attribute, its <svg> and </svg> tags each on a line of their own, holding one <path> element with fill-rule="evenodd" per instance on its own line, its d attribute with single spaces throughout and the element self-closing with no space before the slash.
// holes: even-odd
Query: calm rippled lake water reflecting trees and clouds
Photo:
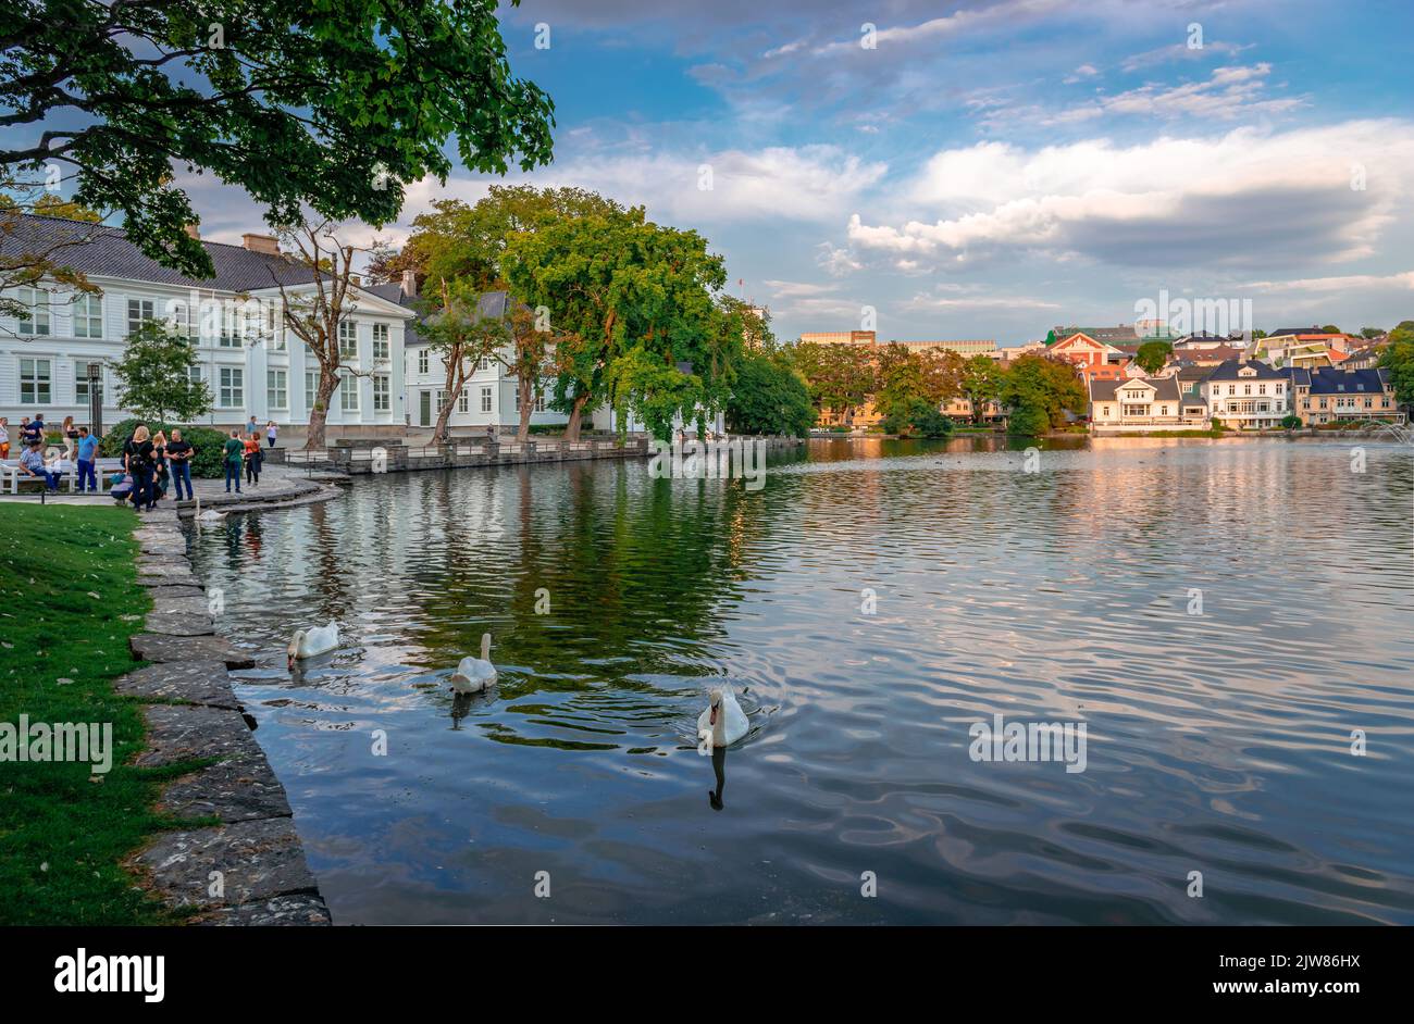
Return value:
<svg viewBox="0 0 1414 1024">
<path fill-rule="evenodd" d="M 1414 451 L 994 443 L 400 475 L 194 538 L 335 921 L 1414 924 Z M 995 713 L 1085 722 L 1086 770 L 971 760 Z"/>
</svg>

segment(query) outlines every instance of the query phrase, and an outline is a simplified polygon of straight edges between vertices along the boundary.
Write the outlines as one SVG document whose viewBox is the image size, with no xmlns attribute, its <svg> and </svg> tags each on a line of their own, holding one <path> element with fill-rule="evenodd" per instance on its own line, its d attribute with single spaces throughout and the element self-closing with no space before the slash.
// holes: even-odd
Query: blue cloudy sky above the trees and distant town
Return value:
<svg viewBox="0 0 1414 1024">
<path fill-rule="evenodd" d="M 870 306 L 1015 345 L 1161 290 L 1266 329 L 1414 316 L 1408 0 L 525 0 L 503 32 L 559 123 L 513 179 L 697 229 L 783 338 Z M 414 185 L 404 225 L 486 184 Z M 259 230 L 195 195 L 206 237 Z"/>
</svg>

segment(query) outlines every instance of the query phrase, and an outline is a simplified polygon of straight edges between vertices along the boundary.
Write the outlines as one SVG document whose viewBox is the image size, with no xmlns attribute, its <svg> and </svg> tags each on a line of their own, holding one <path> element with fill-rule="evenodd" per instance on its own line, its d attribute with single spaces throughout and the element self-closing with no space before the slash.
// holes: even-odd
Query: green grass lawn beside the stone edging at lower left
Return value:
<svg viewBox="0 0 1414 1024">
<path fill-rule="evenodd" d="M 120 866 L 177 825 L 151 806 L 158 782 L 192 767 L 126 764 L 143 749 L 143 718 L 112 681 L 137 667 L 127 640 L 151 607 L 137 585 L 136 523 L 130 508 L 0 503 L 0 722 L 113 723 L 106 775 L 90 777 L 89 764 L 0 761 L 4 925 L 177 919 Z"/>
</svg>

